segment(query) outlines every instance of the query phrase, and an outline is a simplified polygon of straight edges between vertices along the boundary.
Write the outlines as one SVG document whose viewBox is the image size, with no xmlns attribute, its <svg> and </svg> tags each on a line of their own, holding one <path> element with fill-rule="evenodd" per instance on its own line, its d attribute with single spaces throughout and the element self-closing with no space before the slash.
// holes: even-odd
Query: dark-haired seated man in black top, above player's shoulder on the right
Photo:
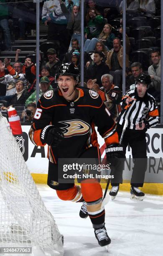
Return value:
<svg viewBox="0 0 163 256">
<path fill-rule="evenodd" d="M 86 70 L 86 80 L 88 79 L 97 79 L 97 84 L 101 87 L 101 77 L 103 74 L 109 73 L 109 67 L 103 61 L 104 54 L 101 51 L 94 51 L 94 64 L 89 66 Z M 86 82 L 86 81 L 85 81 Z"/>
</svg>

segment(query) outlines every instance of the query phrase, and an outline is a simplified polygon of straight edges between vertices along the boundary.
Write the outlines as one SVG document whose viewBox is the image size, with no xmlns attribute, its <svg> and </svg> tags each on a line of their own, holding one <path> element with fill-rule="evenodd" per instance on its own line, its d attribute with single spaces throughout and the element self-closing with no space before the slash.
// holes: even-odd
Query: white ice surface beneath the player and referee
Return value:
<svg viewBox="0 0 163 256">
<path fill-rule="evenodd" d="M 118 192 L 105 206 L 109 253 L 94 237 L 92 224 L 79 217 L 81 203 L 61 201 L 55 190 L 37 184 L 41 197 L 64 235 L 64 256 L 163 256 L 163 197 L 145 195 L 141 202 Z"/>
</svg>

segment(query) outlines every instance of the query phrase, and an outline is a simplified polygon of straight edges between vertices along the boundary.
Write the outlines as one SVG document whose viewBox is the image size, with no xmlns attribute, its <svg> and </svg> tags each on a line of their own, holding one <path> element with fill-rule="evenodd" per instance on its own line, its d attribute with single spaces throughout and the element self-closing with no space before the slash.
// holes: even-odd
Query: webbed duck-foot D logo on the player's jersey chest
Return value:
<svg viewBox="0 0 163 256">
<path fill-rule="evenodd" d="M 64 137 L 84 135 L 89 133 L 90 130 L 90 125 L 80 119 L 60 121 L 59 123 L 66 125 L 65 127 L 61 128 L 63 130 Z"/>
</svg>

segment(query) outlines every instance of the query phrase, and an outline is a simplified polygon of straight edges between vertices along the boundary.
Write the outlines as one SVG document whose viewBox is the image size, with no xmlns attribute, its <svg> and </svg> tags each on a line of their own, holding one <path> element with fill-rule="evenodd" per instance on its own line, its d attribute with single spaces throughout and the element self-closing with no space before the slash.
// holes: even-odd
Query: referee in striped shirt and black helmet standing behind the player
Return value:
<svg viewBox="0 0 163 256">
<path fill-rule="evenodd" d="M 147 90 L 151 78 L 149 75 L 140 74 L 136 78 L 134 90 L 129 90 L 122 97 L 122 111 L 117 119 L 117 132 L 120 138 L 125 120 L 127 127 L 123 136 L 122 145 L 124 154 L 129 144 L 132 149 L 132 158 L 134 168 L 131 178 L 131 199 L 143 200 L 144 193 L 138 188 L 143 187 L 145 171 L 147 168 L 147 146 L 145 132 L 158 123 L 158 107 L 155 99 Z M 110 195 L 114 198 L 119 190 L 119 184 L 122 183 L 122 168 L 114 173 L 115 179 L 112 181 Z"/>
</svg>

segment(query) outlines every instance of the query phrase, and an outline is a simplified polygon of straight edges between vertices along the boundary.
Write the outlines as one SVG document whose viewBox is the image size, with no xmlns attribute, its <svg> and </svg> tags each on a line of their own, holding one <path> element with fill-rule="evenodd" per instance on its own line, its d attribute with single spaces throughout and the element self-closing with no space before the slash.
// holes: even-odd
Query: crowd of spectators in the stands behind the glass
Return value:
<svg viewBox="0 0 163 256">
<path fill-rule="evenodd" d="M 47 36 L 40 43 L 39 97 L 57 88 L 55 77 L 61 64 L 72 62 L 80 71 L 80 2 L 40 3 L 41 26 Z M 148 92 L 160 102 L 160 1 L 126 2 L 126 90 L 135 88 L 140 74 L 149 74 Z M 115 120 L 122 98 L 122 4 L 121 0 L 84 1 L 84 87 L 99 93 Z M 22 59 L 21 47 L 16 51 L 12 48 L 15 39 L 20 46 L 24 40 L 28 44 L 31 31 L 36 29 L 35 17 L 33 1 L 0 0 L 0 104 L 32 109 L 32 118 L 36 109 L 36 54 L 27 53 Z M 14 54 L 14 62 L 9 53 Z M 25 110 L 22 120 L 31 121 Z"/>
</svg>

